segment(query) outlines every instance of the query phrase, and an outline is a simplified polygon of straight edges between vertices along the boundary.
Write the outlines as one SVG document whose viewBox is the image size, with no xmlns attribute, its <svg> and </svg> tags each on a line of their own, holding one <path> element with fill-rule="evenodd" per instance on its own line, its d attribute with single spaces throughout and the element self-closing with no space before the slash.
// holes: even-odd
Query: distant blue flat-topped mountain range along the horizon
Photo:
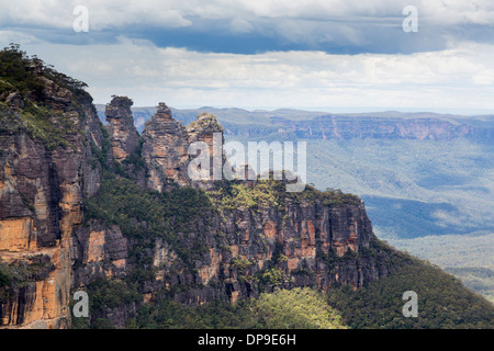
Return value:
<svg viewBox="0 0 494 351">
<path fill-rule="evenodd" d="M 104 121 L 104 105 L 97 105 Z M 449 140 L 468 137 L 492 140 L 494 115 L 462 116 L 430 112 L 402 113 L 338 113 L 280 109 L 274 111 L 243 109 L 171 109 L 173 116 L 184 124 L 201 112 L 216 115 L 225 126 L 225 135 L 238 137 L 274 137 L 306 139 L 433 139 Z M 144 123 L 156 113 L 156 107 L 133 107 L 135 125 L 142 132 Z"/>
</svg>

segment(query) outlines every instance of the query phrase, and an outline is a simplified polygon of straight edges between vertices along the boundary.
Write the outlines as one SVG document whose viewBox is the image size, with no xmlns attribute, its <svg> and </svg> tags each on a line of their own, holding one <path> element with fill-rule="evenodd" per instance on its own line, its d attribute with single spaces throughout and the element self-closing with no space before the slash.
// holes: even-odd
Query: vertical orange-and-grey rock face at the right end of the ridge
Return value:
<svg viewBox="0 0 494 351">
<path fill-rule="evenodd" d="M 193 272 L 177 270 L 181 267 L 179 256 L 166 242 L 156 242 L 155 286 L 165 285 L 170 292 L 190 286 L 172 293 L 178 302 L 235 302 L 257 296 L 262 286 L 327 290 L 346 284 L 358 288 L 388 275 L 391 269 L 384 251 L 364 254 L 374 236 L 363 204 L 329 207 L 288 203 L 283 211 L 239 208 L 210 219 L 212 226 L 201 220 L 197 231 L 181 237 L 183 247 L 195 239 L 206 245 Z"/>
</svg>

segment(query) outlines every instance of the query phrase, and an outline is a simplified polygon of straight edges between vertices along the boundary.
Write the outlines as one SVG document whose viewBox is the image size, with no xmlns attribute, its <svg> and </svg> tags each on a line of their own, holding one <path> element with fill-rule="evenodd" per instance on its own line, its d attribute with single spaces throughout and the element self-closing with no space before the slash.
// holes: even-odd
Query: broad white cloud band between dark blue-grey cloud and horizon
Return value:
<svg viewBox="0 0 494 351">
<path fill-rule="evenodd" d="M 136 106 L 494 109 L 494 46 L 486 44 L 412 55 L 235 55 L 121 37 L 114 45 L 33 41 L 23 49 L 86 81 L 98 103 L 123 94 Z"/>
</svg>

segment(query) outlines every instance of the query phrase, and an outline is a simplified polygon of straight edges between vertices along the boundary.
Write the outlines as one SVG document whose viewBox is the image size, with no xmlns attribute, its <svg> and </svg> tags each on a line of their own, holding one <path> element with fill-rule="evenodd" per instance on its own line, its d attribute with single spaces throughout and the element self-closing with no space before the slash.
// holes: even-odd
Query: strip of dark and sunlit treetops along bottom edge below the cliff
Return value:
<svg viewBox="0 0 494 351">
<path fill-rule="evenodd" d="M 146 329 L 335 329 L 341 317 L 310 288 L 263 293 L 235 304 L 215 301 L 190 307 L 170 299 L 143 305 L 127 328 Z"/>
</svg>

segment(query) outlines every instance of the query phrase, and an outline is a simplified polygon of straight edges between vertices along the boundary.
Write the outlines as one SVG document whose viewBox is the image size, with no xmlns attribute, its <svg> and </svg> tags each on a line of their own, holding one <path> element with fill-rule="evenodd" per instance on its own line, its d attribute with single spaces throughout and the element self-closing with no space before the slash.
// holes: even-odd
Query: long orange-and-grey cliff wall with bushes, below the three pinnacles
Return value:
<svg viewBox="0 0 494 351">
<path fill-rule="evenodd" d="M 119 181 L 109 183 L 123 186 Z M 255 196 L 261 189 L 276 191 L 276 184 L 252 184 L 247 193 L 242 190 L 242 196 Z M 100 208 L 109 208 L 109 196 L 125 196 L 109 191 L 108 185 L 102 186 Z M 204 201 L 197 196 L 200 191 L 191 190 L 182 196 L 172 191 L 171 196 L 179 202 L 166 203 L 164 207 L 180 207 L 190 215 L 180 218 L 180 213 L 171 210 L 164 216 L 171 219 L 170 226 L 158 233 L 151 227 L 159 225 L 159 219 L 153 222 L 153 215 L 137 218 L 126 210 L 119 216 L 127 216 L 121 223 L 131 223 L 132 228 L 120 222 L 109 226 L 104 224 L 108 217 L 91 219 L 76 233 L 80 253 L 74 254 L 75 287 L 88 288 L 90 295 L 101 294 L 98 285 L 101 282 L 92 286 L 96 280 L 135 282 L 139 276 L 137 299 L 117 306 L 108 304 L 91 318 L 105 318 L 114 326 L 124 327 L 136 306 L 164 298 L 198 306 L 215 299 L 236 302 L 256 297 L 274 287 L 328 290 L 345 284 L 359 288 L 390 273 L 389 259 L 393 253 L 377 246 L 360 201 L 328 204 L 325 196 L 301 200 L 285 196 L 283 186 L 280 189 L 276 195 L 279 205 L 248 206 L 240 202 L 237 205 L 239 197 L 223 203 L 225 196 L 218 196 L 217 202 L 213 196 L 211 203 L 200 208 L 195 207 L 195 203 Z M 228 192 L 228 189 L 221 191 Z M 147 200 L 143 196 L 142 202 Z M 160 205 L 157 202 L 130 207 L 134 213 L 142 213 L 144 208 Z M 167 235 L 162 236 L 164 231 Z M 114 292 L 109 284 L 105 294 Z M 128 285 L 119 288 L 124 291 Z"/>
</svg>

